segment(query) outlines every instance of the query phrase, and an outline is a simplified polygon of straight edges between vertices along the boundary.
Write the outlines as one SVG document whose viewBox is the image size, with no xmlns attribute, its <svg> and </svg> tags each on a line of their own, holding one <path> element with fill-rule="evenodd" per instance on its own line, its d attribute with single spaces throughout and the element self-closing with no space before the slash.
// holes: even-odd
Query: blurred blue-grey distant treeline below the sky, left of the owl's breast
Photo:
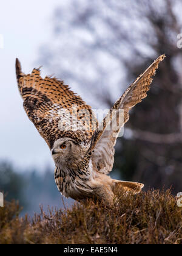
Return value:
<svg viewBox="0 0 182 256">
<path fill-rule="evenodd" d="M 21 215 L 29 213 L 33 216 L 39 212 L 39 206 L 63 207 L 60 193 L 56 187 L 53 170 L 49 166 L 39 174 L 38 169 L 19 172 L 8 162 L 0 162 L 0 191 L 5 194 L 6 201 L 15 199 L 23 207 Z M 72 205 L 72 199 L 64 199 L 66 205 Z"/>
</svg>

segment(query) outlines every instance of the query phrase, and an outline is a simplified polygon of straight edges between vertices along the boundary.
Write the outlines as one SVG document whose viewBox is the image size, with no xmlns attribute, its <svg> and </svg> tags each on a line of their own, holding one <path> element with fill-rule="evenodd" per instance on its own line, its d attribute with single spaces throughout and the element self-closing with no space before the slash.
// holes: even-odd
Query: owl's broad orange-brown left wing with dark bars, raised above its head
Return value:
<svg viewBox="0 0 182 256">
<path fill-rule="evenodd" d="M 88 143 L 96 129 L 96 116 L 86 102 L 55 77 L 42 79 L 39 69 L 24 74 L 16 59 L 16 77 L 24 109 L 50 149 L 62 137 Z"/>
</svg>

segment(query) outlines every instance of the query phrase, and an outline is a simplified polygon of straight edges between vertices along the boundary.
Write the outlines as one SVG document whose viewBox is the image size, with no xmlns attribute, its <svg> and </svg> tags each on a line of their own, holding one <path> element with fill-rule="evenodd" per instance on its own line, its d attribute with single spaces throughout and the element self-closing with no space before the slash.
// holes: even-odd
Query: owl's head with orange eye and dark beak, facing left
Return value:
<svg viewBox="0 0 182 256">
<path fill-rule="evenodd" d="M 52 148 L 52 156 L 56 166 L 78 160 L 84 157 L 85 152 L 85 146 L 72 138 L 60 138 L 55 141 Z"/>
</svg>

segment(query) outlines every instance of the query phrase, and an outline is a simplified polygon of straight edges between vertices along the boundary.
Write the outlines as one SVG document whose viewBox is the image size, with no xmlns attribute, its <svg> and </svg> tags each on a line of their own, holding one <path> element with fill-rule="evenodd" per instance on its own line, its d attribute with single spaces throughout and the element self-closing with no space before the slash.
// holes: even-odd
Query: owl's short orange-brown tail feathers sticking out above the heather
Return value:
<svg viewBox="0 0 182 256">
<path fill-rule="evenodd" d="M 144 184 L 138 182 L 125 182 L 120 180 L 113 180 L 113 193 L 118 194 L 120 190 L 138 194 L 143 189 Z"/>
</svg>

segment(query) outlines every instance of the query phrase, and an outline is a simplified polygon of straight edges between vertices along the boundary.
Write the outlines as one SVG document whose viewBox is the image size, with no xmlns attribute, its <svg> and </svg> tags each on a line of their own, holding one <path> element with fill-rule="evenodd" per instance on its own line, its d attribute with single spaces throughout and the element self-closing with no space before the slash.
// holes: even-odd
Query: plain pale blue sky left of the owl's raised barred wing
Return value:
<svg viewBox="0 0 182 256">
<path fill-rule="evenodd" d="M 53 11 L 59 3 L 58 0 L 1 3 L 0 34 L 4 37 L 4 49 L 0 49 L 0 159 L 11 160 L 22 168 L 38 166 L 41 170 L 45 164 L 53 166 L 53 161 L 47 144 L 22 107 L 15 59 L 21 60 L 25 73 L 37 66 L 39 47 L 51 43 Z"/>
</svg>

